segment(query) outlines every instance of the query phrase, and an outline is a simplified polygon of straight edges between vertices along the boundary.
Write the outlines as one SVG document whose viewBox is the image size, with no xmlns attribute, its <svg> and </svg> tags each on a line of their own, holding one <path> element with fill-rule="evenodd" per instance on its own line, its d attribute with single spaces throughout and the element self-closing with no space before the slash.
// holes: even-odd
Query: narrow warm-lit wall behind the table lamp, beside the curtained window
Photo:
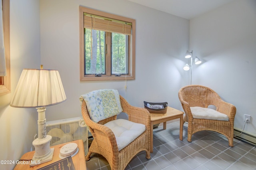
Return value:
<svg viewBox="0 0 256 170">
<path fill-rule="evenodd" d="M 23 68 L 40 68 L 39 1 L 10 0 L 11 93 L 0 96 L 0 160 L 19 160 L 30 151 L 37 133 L 36 109 L 10 107 Z M 1 170 L 15 164 L 0 165 Z"/>
</svg>

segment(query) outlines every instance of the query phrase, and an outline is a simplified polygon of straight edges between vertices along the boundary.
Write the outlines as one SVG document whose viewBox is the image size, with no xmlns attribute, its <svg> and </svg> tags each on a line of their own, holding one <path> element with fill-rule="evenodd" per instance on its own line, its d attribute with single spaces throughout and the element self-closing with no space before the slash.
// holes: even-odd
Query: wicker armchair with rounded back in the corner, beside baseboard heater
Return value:
<svg viewBox="0 0 256 170">
<path fill-rule="evenodd" d="M 188 142 L 191 142 L 192 134 L 198 131 L 213 130 L 224 134 L 228 138 L 228 145 L 233 146 L 234 117 L 236 115 L 234 105 L 224 102 L 215 91 L 201 85 L 182 87 L 178 96 L 186 114 L 184 122 L 188 122 Z M 228 115 L 228 121 L 193 118 L 190 107 L 208 108 L 209 105 L 216 106 L 216 111 Z"/>
</svg>

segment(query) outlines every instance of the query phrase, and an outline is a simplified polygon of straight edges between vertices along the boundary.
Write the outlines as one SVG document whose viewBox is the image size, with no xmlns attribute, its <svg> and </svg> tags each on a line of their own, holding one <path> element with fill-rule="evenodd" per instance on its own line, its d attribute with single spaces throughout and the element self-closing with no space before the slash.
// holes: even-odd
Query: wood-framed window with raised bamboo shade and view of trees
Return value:
<svg viewBox="0 0 256 170">
<path fill-rule="evenodd" d="M 80 81 L 135 79 L 135 20 L 79 7 Z"/>
</svg>

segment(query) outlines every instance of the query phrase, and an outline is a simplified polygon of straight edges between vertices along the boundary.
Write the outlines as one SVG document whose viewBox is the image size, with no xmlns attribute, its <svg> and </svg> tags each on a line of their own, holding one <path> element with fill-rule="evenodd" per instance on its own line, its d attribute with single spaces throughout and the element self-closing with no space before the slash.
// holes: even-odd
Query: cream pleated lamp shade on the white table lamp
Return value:
<svg viewBox="0 0 256 170">
<path fill-rule="evenodd" d="M 23 69 L 10 106 L 38 108 L 65 100 L 66 95 L 57 70 Z"/>
</svg>

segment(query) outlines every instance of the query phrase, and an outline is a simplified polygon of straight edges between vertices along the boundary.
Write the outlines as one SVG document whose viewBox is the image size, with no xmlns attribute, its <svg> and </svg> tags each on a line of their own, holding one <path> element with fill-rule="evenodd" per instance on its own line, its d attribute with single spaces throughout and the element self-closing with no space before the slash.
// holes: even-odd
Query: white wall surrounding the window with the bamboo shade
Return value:
<svg viewBox="0 0 256 170">
<path fill-rule="evenodd" d="M 114 5 L 113 5 L 114 4 Z M 86 6 L 136 20 L 136 79 L 80 82 L 79 6 Z M 58 69 L 67 100 L 48 107 L 46 119 L 81 116 L 80 95 L 96 89 L 118 89 L 131 105 L 164 102 L 181 109 L 178 90 L 188 76 L 182 67 L 188 49 L 189 21 L 127 0 L 41 0 L 41 63 Z"/>
</svg>

